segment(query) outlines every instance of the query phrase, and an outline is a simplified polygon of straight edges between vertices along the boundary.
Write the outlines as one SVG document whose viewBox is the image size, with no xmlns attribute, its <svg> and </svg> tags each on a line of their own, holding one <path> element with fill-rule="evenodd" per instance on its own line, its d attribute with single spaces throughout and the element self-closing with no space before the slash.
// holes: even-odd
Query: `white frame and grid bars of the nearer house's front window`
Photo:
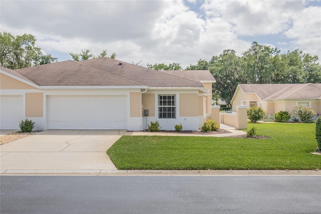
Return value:
<svg viewBox="0 0 321 214">
<path fill-rule="evenodd" d="M 167 96 L 166 99 L 160 99 L 161 96 Z M 168 96 L 171 96 L 171 99 L 168 99 Z M 174 96 L 174 99 L 173 99 Z M 163 97 L 162 97 L 163 98 Z M 164 102 L 166 101 L 166 104 L 164 105 Z M 168 101 L 171 101 L 171 104 L 168 105 Z M 174 101 L 174 103 L 173 103 Z M 157 94 L 157 108 L 158 108 L 158 119 L 176 119 L 177 118 L 177 95 L 176 94 Z M 162 108 L 162 111 L 159 111 Z M 166 111 L 163 111 L 163 109 L 166 108 Z M 169 108 L 171 111 L 168 111 Z M 173 111 L 173 108 L 175 111 Z M 166 117 L 164 117 L 164 113 L 166 113 Z M 168 114 L 171 114 L 171 117 L 168 117 Z M 173 117 L 174 114 L 174 117 Z"/>
</svg>

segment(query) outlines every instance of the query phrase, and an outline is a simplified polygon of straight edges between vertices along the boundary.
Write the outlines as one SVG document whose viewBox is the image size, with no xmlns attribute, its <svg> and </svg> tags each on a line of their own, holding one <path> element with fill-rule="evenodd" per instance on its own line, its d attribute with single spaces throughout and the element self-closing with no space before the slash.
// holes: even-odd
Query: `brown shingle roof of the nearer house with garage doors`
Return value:
<svg viewBox="0 0 321 214">
<path fill-rule="evenodd" d="M 3 71 L 39 86 L 142 85 L 148 87 L 203 87 L 215 82 L 205 71 L 156 71 L 119 60 L 99 57 L 84 61 L 63 61 Z"/>
</svg>

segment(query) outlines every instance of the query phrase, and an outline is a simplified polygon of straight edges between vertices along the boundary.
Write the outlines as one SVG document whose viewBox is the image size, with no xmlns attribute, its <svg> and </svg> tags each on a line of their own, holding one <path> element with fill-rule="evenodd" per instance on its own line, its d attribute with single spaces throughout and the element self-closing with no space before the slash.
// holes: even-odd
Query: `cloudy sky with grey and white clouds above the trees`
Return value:
<svg viewBox="0 0 321 214">
<path fill-rule="evenodd" d="M 210 60 L 252 44 L 321 58 L 321 1 L 1 1 L 1 32 L 36 37 L 58 61 L 91 49 L 125 62 Z"/>
</svg>

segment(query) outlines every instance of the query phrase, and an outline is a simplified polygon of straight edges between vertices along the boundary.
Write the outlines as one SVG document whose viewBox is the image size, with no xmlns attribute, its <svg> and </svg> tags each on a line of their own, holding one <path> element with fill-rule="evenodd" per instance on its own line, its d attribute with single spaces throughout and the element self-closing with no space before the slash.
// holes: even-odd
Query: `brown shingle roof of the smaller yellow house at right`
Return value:
<svg viewBox="0 0 321 214">
<path fill-rule="evenodd" d="M 321 83 L 239 84 L 238 87 L 245 93 L 257 94 L 261 100 L 321 98 Z"/>
</svg>

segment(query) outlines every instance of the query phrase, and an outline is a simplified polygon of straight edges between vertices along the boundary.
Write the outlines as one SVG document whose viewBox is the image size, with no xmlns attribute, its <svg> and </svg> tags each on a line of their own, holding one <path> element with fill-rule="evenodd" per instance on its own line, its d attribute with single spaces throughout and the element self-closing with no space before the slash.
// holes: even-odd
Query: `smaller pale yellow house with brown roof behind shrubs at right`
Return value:
<svg viewBox="0 0 321 214">
<path fill-rule="evenodd" d="M 267 115 L 279 111 L 292 112 L 298 105 L 308 106 L 321 115 L 321 84 L 239 84 L 231 104 L 260 106 Z"/>
</svg>

